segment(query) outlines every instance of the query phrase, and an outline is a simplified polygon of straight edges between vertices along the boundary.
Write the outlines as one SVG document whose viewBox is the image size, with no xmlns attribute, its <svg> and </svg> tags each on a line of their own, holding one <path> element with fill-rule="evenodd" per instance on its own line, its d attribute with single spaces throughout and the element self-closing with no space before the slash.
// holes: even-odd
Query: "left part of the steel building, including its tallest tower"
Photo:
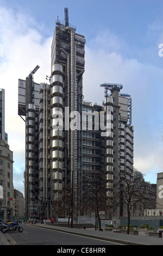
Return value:
<svg viewBox="0 0 163 256">
<path fill-rule="evenodd" d="M 71 113 L 82 112 L 84 45 L 84 36 L 68 23 L 65 10 L 65 22 L 57 21 L 52 41 L 51 84 L 33 82 L 39 66 L 26 81 L 18 81 L 18 114 L 26 122 L 28 217 L 33 205 L 41 202 L 45 207 L 41 217 L 57 218 L 64 183 L 70 180 L 77 188 L 82 178 L 82 131 L 69 127 Z M 58 113 L 63 114 L 64 130 L 56 129 Z"/>
</svg>

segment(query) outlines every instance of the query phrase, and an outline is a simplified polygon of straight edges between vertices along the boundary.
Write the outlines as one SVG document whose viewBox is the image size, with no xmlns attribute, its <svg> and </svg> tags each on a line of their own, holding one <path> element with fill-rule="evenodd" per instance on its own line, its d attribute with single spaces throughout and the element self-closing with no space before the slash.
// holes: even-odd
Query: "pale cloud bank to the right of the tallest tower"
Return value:
<svg viewBox="0 0 163 256">
<path fill-rule="evenodd" d="M 99 48 L 86 46 L 83 94 L 85 100 L 102 105 L 104 89 L 100 84 L 123 84 L 122 93 L 130 94 L 133 101 L 134 167 L 156 182 L 156 173 L 162 172 L 163 166 L 162 69 L 124 58 L 121 47 L 116 51 L 120 40 L 111 34 L 109 37 L 115 39 L 115 47 L 113 40 L 108 49 L 101 47 L 99 38 L 91 40 Z M 101 36 L 104 41 L 105 35 Z"/>
</svg>

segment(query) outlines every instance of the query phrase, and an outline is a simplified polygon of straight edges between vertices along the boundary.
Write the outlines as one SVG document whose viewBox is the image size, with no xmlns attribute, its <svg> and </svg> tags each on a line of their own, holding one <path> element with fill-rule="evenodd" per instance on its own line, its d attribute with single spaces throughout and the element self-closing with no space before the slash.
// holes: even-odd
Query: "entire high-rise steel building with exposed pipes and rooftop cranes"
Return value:
<svg viewBox="0 0 163 256">
<path fill-rule="evenodd" d="M 112 198 L 120 172 L 133 170 L 131 97 L 111 86 L 102 106 L 83 101 L 85 38 L 69 24 L 67 9 L 65 22 L 57 20 L 56 25 L 49 84 L 33 81 L 39 66 L 26 80 L 18 80 L 18 114 L 26 123 L 26 217 L 55 220 L 68 215 L 66 210 L 59 212 L 68 186 L 76 197 L 71 217 L 77 218 L 83 175 L 103 171 L 106 193 Z M 104 136 L 104 129 L 95 129 L 101 112 L 110 114 L 110 130 Z M 117 215 L 121 212 L 122 207 Z"/>
</svg>

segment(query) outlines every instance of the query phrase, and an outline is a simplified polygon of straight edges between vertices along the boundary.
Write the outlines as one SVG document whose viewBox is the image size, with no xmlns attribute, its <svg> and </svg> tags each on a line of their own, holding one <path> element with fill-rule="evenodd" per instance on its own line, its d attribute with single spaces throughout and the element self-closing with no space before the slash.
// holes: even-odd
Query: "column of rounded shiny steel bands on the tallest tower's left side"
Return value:
<svg viewBox="0 0 163 256">
<path fill-rule="evenodd" d="M 60 64 L 52 66 L 52 88 L 51 88 L 51 168 L 52 168 L 52 190 L 55 193 L 62 190 L 62 160 L 63 160 L 63 131 L 54 129 L 55 115 L 62 113 L 63 108 L 63 67 Z M 56 127 L 55 127 L 56 128 Z M 60 172 L 58 172 L 60 170 Z M 58 198 L 58 197 L 57 197 Z"/>
</svg>

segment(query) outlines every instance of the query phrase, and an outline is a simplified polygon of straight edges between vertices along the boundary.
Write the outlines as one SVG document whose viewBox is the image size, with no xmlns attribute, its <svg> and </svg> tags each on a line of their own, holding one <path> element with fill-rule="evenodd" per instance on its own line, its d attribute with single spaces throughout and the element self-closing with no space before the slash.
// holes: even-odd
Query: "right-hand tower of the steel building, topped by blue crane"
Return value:
<svg viewBox="0 0 163 256">
<path fill-rule="evenodd" d="M 122 84 L 105 83 L 101 86 L 105 88 L 104 106 L 105 111 L 110 112 L 111 120 L 109 136 L 106 135 L 105 141 L 105 171 L 108 187 L 112 187 L 112 191 L 108 190 L 108 196 L 114 197 L 120 191 L 120 174 L 133 172 L 134 127 L 131 125 L 131 96 L 120 93 Z M 113 216 L 123 214 L 124 207 L 121 202 L 113 211 Z"/>
</svg>

